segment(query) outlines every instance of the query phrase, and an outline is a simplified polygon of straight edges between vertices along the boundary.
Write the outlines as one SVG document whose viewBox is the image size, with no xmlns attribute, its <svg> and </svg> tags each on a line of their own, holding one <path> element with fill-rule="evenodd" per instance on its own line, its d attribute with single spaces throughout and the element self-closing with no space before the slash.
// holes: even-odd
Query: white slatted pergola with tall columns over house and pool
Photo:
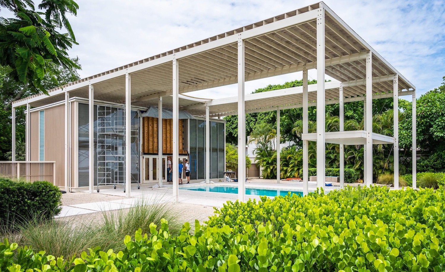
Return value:
<svg viewBox="0 0 445 272">
<path fill-rule="evenodd" d="M 320 34 L 320 35 L 319 35 Z M 307 85 L 307 70 L 317 70 L 317 84 Z M 265 93 L 245 95 L 245 81 L 286 73 L 303 72 L 303 86 Z M 325 82 L 325 75 L 338 82 Z M 184 95 L 196 90 L 237 83 L 238 96 L 203 100 Z M 317 185 L 325 186 L 325 144 L 363 144 L 365 149 L 364 183 L 372 183 L 372 144 L 394 145 L 394 187 L 398 188 L 398 111 L 394 111 L 394 135 L 388 137 L 372 132 L 372 99 L 393 97 L 398 109 L 398 97 L 413 99 L 413 187 L 416 187 L 416 103 L 415 87 L 370 45 L 360 38 L 326 4 L 307 7 L 249 24 L 195 43 L 136 61 L 49 91 L 15 101 L 15 108 L 48 105 L 65 100 L 69 117 L 69 97 L 89 99 L 90 131 L 93 131 L 93 101 L 125 103 L 147 107 L 158 105 L 173 108 L 173 126 L 178 126 L 178 111 L 206 116 L 206 181 L 209 181 L 210 117 L 238 114 L 238 186 L 239 199 L 245 200 L 246 130 L 245 113 L 303 107 L 303 191 L 307 194 L 307 141 L 317 142 Z M 364 130 L 344 131 L 344 103 L 364 101 Z M 325 132 L 325 105 L 340 104 L 340 131 Z M 307 130 L 307 107 L 317 108 L 317 132 Z M 129 123 L 130 111 L 126 112 Z M 69 118 L 68 118 L 69 120 Z M 277 119 L 279 131 L 279 118 Z M 65 155 L 69 157 L 69 122 L 65 122 Z M 27 122 L 26 154 L 29 158 L 29 122 Z M 162 131 L 162 130 L 160 130 Z M 93 133 L 90 133 L 90 158 L 93 157 Z M 130 130 L 126 130 L 129 138 Z M 277 135 L 279 143 L 279 133 Z M 162 145 L 160 145 L 162 146 Z M 13 154 L 15 133 L 13 132 Z M 129 150 L 129 142 L 126 142 Z M 178 130 L 173 131 L 173 161 L 178 161 Z M 279 148 L 277 148 L 279 149 Z M 161 156 L 161 154 L 160 154 Z M 279 156 L 278 156 L 279 159 Z M 279 161 L 278 161 L 279 162 Z M 126 180 L 130 180 L 131 156 L 126 156 Z M 279 163 L 278 163 L 279 166 Z M 173 163 L 173 172 L 177 172 Z M 340 168 L 344 168 L 340 160 Z M 90 191 L 93 191 L 93 160 L 90 160 Z M 68 170 L 68 166 L 67 166 Z M 68 173 L 68 171 L 65 171 Z M 340 180 L 343 184 L 344 176 Z M 65 184 L 68 174 L 65 174 Z M 279 179 L 278 179 L 279 182 Z M 127 197 L 131 195 L 126 183 Z M 178 184 L 173 184 L 173 196 L 178 200 Z"/>
</svg>

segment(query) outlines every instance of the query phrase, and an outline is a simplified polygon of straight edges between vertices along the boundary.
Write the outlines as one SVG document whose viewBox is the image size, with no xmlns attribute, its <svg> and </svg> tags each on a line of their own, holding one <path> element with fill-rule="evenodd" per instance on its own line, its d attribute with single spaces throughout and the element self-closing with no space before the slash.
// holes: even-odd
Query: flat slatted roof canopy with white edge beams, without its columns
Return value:
<svg viewBox="0 0 445 272">
<path fill-rule="evenodd" d="M 89 84 L 94 86 L 95 100 L 123 103 L 125 73 L 131 75 L 132 105 L 157 105 L 158 97 L 167 96 L 163 101 L 164 106 L 172 106 L 171 98 L 168 98 L 172 94 L 172 60 L 178 60 L 179 93 L 234 84 L 238 81 L 239 38 L 245 40 L 246 81 L 313 69 L 316 68 L 316 17 L 321 7 L 325 9 L 326 25 L 325 73 L 337 81 L 349 82 L 344 84 L 346 98 L 363 97 L 366 93 L 364 78 L 368 51 L 372 52 L 374 94 L 391 93 L 394 75 L 398 75 L 399 91 L 415 89 L 413 84 L 363 41 L 326 4 L 319 2 L 71 82 L 49 90 L 50 96 L 38 94 L 15 101 L 13 106 L 22 106 L 29 102 L 36 107 L 62 101 L 65 99 L 65 91 L 69 92 L 70 97 L 88 98 Z M 333 85 L 328 90 L 328 84 L 326 100 L 333 101 L 338 97 L 338 90 Z M 301 103 L 301 95 L 298 94 L 283 99 L 287 104 L 277 98 L 275 107 Z M 199 110 L 198 105 L 207 103 L 202 99 L 186 96 L 179 100 L 182 110 L 189 109 L 199 115 L 202 115 L 202 109 Z M 316 101 L 316 90 L 312 90 L 309 101 Z M 221 100 L 214 100 L 209 103 L 220 102 Z M 273 100 L 268 102 L 269 106 L 273 104 Z M 246 101 L 246 109 L 255 110 L 248 103 Z M 220 108 L 213 106 L 210 112 L 212 115 L 234 113 L 236 107 L 232 104 Z"/>
</svg>

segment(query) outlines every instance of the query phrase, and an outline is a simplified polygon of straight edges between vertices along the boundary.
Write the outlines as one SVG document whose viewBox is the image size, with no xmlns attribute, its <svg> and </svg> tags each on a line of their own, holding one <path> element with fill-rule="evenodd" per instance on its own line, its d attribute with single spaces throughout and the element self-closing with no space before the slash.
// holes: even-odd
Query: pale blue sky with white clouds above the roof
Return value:
<svg viewBox="0 0 445 272">
<path fill-rule="evenodd" d="M 316 0 L 77 0 L 77 3 L 77 16 L 69 20 L 79 45 L 70 49 L 69 55 L 79 57 L 82 65 L 79 74 L 88 77 L 314 4 Z M 445 76 L 445 0 L 326 0 L 324 3 L 411 81 L 418 95 L 441 85 Z M 316 71 L 309 71 L 308 75 L 314 79 Z M 299 72 L 248 81 L 246 93 L 301 78 Z M 237 87 L 230 85 L 188 94 L 228 97 L 237 95 Z"/>
</svg>

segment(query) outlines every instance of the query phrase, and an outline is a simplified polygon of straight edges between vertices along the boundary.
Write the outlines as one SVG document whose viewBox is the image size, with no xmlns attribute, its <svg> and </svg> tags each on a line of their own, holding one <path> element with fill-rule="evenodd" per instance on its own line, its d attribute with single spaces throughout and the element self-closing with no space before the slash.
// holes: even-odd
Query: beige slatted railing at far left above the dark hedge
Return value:
<svg viewBox="0 0 445 272">
<path fill-rule="evenodd" d="M 56 184 L 56 162 L 0 162 L 0 177 Z"/>
</svg>

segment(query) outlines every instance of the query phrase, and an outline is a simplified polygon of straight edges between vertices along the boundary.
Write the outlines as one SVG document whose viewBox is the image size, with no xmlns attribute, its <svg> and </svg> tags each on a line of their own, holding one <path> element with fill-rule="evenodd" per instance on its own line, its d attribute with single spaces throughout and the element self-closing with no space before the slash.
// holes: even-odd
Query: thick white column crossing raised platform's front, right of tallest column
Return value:
<svg viewBox="0 0 445 272">
<path fill-rule="evenodd" d="M 365 186 L 372 185 L 372 53 L 368 52 L 366 55 L 366 116 L 364 122 L 366 123 L 366 160 L 364 169 Z"/>
</svg>

